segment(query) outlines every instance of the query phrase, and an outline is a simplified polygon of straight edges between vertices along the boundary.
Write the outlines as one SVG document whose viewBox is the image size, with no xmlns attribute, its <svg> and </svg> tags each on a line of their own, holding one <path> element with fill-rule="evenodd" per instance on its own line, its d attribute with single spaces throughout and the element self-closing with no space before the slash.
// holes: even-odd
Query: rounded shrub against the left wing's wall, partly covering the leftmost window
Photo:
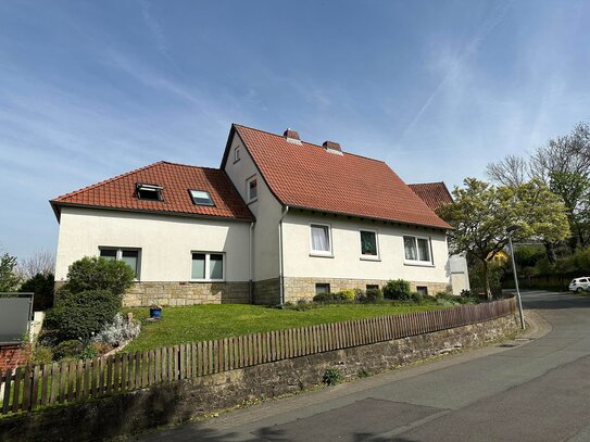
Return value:
<svg viewBox="0 0 590 442">
<path fill-rule="evenodd" d="M 70 266 L 65 289 L 72 293 L 108 290 L 121 295 L 133 286 L 134 279 L 135 271 L 123 261 L 85 256 Z"/>
</svg>

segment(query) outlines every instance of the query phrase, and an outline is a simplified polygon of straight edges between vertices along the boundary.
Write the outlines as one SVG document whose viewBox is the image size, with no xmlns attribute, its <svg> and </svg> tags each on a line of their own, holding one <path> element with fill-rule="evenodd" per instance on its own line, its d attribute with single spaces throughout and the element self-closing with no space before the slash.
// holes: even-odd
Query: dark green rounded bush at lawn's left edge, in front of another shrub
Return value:
<svg viewBox="0 0 590 442">
<path fill-rule="evenodd" d="M 87 341 L 113 320 L 121 306 L 121 296 L 106 290 L 62 291 L 58 304 L 47 313 L 46 327 L 58 330 L 59 340 Z"/>
</svg>

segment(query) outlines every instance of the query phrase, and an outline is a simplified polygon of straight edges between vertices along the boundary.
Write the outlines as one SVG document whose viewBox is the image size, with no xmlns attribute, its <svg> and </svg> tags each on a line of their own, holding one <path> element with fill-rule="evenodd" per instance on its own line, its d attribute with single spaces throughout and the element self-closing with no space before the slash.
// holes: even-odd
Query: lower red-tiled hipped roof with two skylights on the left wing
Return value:
<svg viewBox="0 0 590 442">
<path fill-rule="evenodd" d="M 163 201 L 139 200 L 135 193 L 138 182 L 162 186 Z M 193 204 L 189 189 L 208 191 L 215 205 Z M 224 171 L 164 161 L 66 193 L 50 202 L 58 215 L 61 205 L 76 205 L 254 219 Z"/>
</svg>

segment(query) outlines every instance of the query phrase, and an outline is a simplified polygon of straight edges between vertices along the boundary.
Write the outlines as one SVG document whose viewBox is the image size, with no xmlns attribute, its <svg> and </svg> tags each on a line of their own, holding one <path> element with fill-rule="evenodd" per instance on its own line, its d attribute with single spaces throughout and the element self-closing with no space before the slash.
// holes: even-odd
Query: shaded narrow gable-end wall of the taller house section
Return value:
<svg viewBox="0 0 590 442">
<path fill-rule="evenodd" d="M 240 152 L 238 161 L 236 149 Z M 238 135 L 231 140 L 225 172 L 256 218 L 253 236 L 253 280 L 278 278 L 278 224 L 283 207 L 262 179 L 260 171 Z M 247 182 L 254 176 L 258 182 L 258 198 L 253 202 L 248 202 Z"/>
</svg>

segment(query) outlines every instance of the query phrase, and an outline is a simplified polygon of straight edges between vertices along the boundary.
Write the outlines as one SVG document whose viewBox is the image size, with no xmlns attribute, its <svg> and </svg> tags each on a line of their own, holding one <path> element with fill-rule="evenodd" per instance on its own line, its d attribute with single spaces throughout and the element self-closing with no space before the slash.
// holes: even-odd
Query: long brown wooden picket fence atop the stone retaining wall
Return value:
<svg viewBox="0 0 590 442">
<path fill-rule="evenodd" d="M 0 415 L 495 319 L 514 299 L 348 320 L 0 371 Z"/>
</svg>

